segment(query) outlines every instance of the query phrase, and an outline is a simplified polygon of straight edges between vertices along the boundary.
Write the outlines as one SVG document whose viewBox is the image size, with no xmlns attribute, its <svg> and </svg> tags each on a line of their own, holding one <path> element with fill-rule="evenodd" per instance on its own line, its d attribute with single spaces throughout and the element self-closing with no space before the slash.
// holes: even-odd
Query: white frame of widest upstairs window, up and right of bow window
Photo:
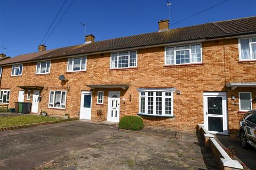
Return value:
<svg viewBox="0 0 256 170">
<path fill-rule="evenodd" d="M 191 62 L 192 60 L 192 54 L 191 54 L 191 46 L 192 45 L 200 45 L 200 52 L 201 52 L 201 62 Z M 176 64 L 176 52 L 180 50 L 186 50 L 186 49 L 176 49 L 179 46 L 189 46 L 189 63 L 180 63 Z M 174 48 L 174 63 L 173 64 L 167 64 L 166 63 L 166 48 Z M 164 65 L 188 65 L 188 64 L 201 64 L 203 63 L 203 53 L 202 53 L 202 43 L 195 43 L 195 44 L 181 44 L 181 45 L 176 45 L 176 46 L 168 46 L 164 48 Z"/>
</svg>

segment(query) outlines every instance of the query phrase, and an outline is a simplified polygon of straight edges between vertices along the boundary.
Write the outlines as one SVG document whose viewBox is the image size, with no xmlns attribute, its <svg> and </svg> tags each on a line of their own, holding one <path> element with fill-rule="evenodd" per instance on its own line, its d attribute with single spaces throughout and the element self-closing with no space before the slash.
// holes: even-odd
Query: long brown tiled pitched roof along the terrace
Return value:
<svg viewBox="0 0 256 170">
<path fill-rule="evenodd" d="M 251 33 L 256 33 L 256 16 L 193 25 L 190 27 L 170 29 L 163 32 L 151 32 L 135 36 L 97 41 L 94 43 L 57 48 L 39 53 L 30 53 L 9 60 L 0 61 L 0 65 L 47 60 L 55 57 L 78 54 L 103 53 L 110 50 L 178 43 L 189 40 L 246 35 Z"/>
</svg>

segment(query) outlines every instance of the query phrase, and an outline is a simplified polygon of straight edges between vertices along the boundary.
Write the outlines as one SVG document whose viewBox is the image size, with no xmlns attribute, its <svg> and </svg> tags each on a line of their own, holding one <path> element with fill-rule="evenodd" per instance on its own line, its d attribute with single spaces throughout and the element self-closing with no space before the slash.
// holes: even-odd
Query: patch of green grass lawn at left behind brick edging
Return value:
<svg viewBox="0 0 256 170">
<path fill-rule="evenodd" d="M 37 115 L 0 117 L 0 128 L 9 127 L 9 126 L 26 125 L 26 124 L 32 124 L 32 123 L 50 122 L 50 121 L 57 121 L 57 120 L 61 120 L 61 118 L 37 116 Z"/>
</svg>

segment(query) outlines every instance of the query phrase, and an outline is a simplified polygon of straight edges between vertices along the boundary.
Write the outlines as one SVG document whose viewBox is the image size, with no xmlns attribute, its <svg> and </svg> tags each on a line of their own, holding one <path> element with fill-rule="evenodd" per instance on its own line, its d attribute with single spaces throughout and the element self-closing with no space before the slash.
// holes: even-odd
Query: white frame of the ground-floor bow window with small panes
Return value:
<svg viewBox="0 0 256 170">
<path fill-rule="evenodd" d="M 141 96 L 141 92 L 145 92 L 145 96 Z M 153 92 L 153 114 L 148 114 L 148 92 Z M 156 114 L 156 92 L 162 92 L 162 114 Z M 165 92 L 171 92 L 171 96 L 165 96 Z M 139 91 L 139 115 L 145 116 L 159 116 L 159 117 L 174 117 L 173 116 L 173 91 L 162 90 L 143 90 Z M 141 97 L 145 97 L 145 113 L 141 113 Z M 171 98 L 171 114 L 165 114 L 165 98 Z"/>
</svg>

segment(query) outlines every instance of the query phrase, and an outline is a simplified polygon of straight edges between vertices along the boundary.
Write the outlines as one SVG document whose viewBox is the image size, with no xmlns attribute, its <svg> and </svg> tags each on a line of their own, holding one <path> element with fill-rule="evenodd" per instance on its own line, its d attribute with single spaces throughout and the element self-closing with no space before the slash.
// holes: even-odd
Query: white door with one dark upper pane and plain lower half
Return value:
<svg viewBox="0 0 256 170">
<path fill-rule="evenodd" d="M 80 119 L 91 120 L 92 91 L 82 91 L 80 105 Z"/>
</svg>

